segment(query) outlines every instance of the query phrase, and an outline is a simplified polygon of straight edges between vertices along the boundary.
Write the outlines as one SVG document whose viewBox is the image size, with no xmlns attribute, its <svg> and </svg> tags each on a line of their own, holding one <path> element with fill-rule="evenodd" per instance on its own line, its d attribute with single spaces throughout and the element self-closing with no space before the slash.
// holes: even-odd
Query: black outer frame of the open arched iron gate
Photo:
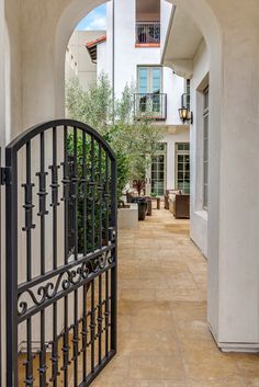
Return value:
<svg viewBox="0 0 259 387">
<path fill-rule="evenodd" d="M 78 387 L 89 386 L 116 354 L 117 350 L 117 197 L 116 157 L 102 136 L 87 124 L 74 119 L 55 119 L 35 125 L 20 134 L 5 147 L 5 167 L 1 168 L 1 182 L 5 184 L 5 275 L 7 275 L 7 387 L 18 386 L 18 151 L 34 137 L 54 127 L 81 129 L 100 143 L 111 160 L 111 224 L 115 230 L 114 260 L 111 269 L 111 351 L 88 380 Z M 16 372 L 15 372 L 16 371 Z M 0 382 L 1 387 L 1 382 Z"/>
</svg>

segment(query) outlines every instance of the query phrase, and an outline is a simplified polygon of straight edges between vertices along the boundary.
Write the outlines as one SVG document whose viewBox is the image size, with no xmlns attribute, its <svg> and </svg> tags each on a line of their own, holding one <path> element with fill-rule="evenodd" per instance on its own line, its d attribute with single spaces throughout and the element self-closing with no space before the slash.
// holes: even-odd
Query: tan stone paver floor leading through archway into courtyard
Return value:
<svg viewBox="0 0 259 387">
<path fill-rule="evenodd" d="M 224 354 L 206 323 L 206 261 L 167 210 L 119 238 L 119 353 L 93 387 L 258 387 L 259 357 Z"/>
</svg>

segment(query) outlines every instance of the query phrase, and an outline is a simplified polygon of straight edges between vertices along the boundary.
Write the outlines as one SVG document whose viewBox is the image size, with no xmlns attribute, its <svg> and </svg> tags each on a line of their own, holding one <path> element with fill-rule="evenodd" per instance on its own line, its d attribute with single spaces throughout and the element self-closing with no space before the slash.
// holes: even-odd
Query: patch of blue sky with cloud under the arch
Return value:
<svg viewBox="0 0 259 387">
<path fill-rule="evenodd" d="M 106 30 L 106 3 L 95 8 L 77 25 L 77 31 Z"/>
</svg>

